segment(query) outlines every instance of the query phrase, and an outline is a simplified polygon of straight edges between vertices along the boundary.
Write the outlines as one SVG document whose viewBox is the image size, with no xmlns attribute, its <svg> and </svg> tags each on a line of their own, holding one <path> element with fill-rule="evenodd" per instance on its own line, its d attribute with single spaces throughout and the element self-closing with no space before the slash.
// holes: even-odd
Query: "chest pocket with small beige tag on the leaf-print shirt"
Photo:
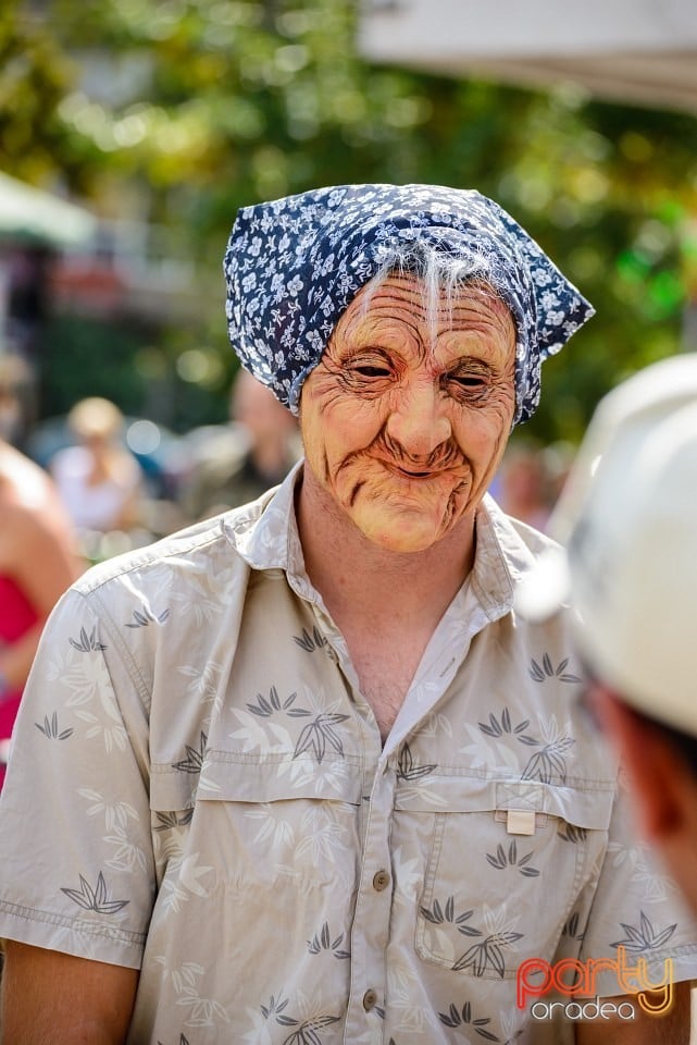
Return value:
<svg viewBox="0 0 697 1045">
<path fill-rule="evenodd" d="M 434 789 L 445 811 L 432 807 L 420 957 L 484 979 L 513 978 L 528 957 L 551 960 L 578 892 L 598 874 L 613 789 L 452 778 Z"/>
</svg>

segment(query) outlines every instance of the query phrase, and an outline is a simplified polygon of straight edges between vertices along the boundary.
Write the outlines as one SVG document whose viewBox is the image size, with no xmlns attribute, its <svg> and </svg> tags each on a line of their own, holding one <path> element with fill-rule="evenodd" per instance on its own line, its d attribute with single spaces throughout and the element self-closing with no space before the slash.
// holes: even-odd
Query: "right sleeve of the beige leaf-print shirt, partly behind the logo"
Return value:
<svg viewBox="0 0 697 1045">
<path fill-rule="evenodd" d="M 675 983 L 697 976 L 697 922 L 659 853 L 638 836 L 622 773 L 580 958 L 610 959 L 625 969 L 643 959 L 638 968 L 654 984 L 669 975 Z M 595 994 L 632 993 L 626 986 L 638 984 L 637 975 L 618 971 L 596 973 Z"/>
</svg>

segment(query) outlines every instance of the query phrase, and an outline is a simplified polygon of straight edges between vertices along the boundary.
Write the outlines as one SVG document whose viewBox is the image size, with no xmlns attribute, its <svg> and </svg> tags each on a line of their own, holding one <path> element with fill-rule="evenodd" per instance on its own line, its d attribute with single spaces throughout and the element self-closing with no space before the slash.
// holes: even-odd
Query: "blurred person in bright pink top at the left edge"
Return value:
<svg viewBox="0 0 697 1045">
<path fill-rule="evenodd" d="M 75 539 L 53 483 L 0 439 L 0 786 L 41 629 L 79 573 Z"/>
</svg>

